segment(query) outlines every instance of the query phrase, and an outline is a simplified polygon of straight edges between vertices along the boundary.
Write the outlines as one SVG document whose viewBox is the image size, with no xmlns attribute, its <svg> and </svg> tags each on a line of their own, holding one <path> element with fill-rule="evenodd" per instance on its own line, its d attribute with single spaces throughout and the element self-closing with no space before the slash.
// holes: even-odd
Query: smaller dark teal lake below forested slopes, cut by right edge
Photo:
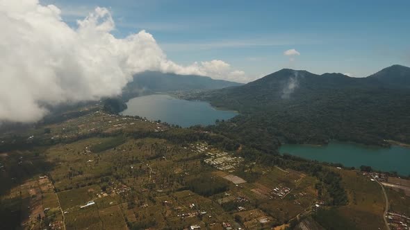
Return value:
<svg viewBox="0 0 410 230">
<path fill-rule="evenodd" d="M 324 146 L 282 145 L 281 153 L 288 153 L 306 159 L 342 163 L 343 166 L 359 168 L 372 166 L 377 170 L 395 171 L 410 175 L 410 148 L 393 145 L 391 148 L 372 148 L 350 143 L 329 143 Z"/>
</svg>

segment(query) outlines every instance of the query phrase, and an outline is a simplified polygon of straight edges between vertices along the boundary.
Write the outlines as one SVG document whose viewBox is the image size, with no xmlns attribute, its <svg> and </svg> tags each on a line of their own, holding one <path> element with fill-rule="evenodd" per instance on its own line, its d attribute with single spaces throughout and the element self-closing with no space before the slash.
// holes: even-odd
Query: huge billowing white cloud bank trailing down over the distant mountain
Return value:
<svg viewBox="0 0 410 230">
<path fill-rule="evenodd" d="M 141 71 L 245 79 L 221 60 L 176 64 L 145 30 L 115 38 L 106 8 L 96 8 L 73 29 L 59 8 L 38 0 L 0 0 L 0 6 L 0 121 L 38 121 L 47 114 L 44 104 L 118 95 Z"/>
</svg>

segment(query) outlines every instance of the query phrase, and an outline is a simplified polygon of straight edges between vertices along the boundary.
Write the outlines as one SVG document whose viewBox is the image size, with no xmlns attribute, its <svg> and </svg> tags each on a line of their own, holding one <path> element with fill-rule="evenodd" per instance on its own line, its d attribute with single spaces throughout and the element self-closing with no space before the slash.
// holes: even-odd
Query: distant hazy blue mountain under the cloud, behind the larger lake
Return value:
<svg viewBox="0 0 410 230">
<path fill-rule="evenodd" d="M 243 85 L 227 80 L 215 80 L 204 76 L 179 75 L 175 73 L 161 73 L 158 71 L 145 71 L 133 76 L 133 81 L 124 87 L 125 98 L 166 91 L 187 91 L 197 89 L 222 89 Z"/>
</svg>

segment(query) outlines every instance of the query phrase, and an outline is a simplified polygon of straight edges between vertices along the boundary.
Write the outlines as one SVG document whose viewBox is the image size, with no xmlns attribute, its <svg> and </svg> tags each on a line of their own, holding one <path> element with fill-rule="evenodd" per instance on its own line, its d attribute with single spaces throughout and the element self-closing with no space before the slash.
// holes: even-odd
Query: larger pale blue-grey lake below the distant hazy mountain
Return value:
<svg viewBox="0 0 410 230">
<path fill-rule="evenodd" d="M 160 94 L 132 98 L 126 105 L 128 108 L 122 115 L 141 116 L 182 127 L 212 125 L 216 119 L 228 120 L 238 115 L 233 111 L 215 109 L 206 102 L 180 100 Z"/>
</svg>

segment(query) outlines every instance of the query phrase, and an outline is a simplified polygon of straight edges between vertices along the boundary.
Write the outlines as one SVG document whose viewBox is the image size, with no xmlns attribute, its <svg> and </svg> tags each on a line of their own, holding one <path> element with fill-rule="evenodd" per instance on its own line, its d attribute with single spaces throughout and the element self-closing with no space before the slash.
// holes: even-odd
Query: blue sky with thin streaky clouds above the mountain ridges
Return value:
<svg viewBox="0 0 410 230">
<path fill-rule="evenodd" d="M 109 8 L 116 37 L 145 29 L 179 64 L 223 60 L 252 78 L 282 68 L 363 77 L 410 66 L 410 1 L 40 0 L 71 26 Z M 286 56 L 295 49 L 300 55 Z"/>
</svg>

